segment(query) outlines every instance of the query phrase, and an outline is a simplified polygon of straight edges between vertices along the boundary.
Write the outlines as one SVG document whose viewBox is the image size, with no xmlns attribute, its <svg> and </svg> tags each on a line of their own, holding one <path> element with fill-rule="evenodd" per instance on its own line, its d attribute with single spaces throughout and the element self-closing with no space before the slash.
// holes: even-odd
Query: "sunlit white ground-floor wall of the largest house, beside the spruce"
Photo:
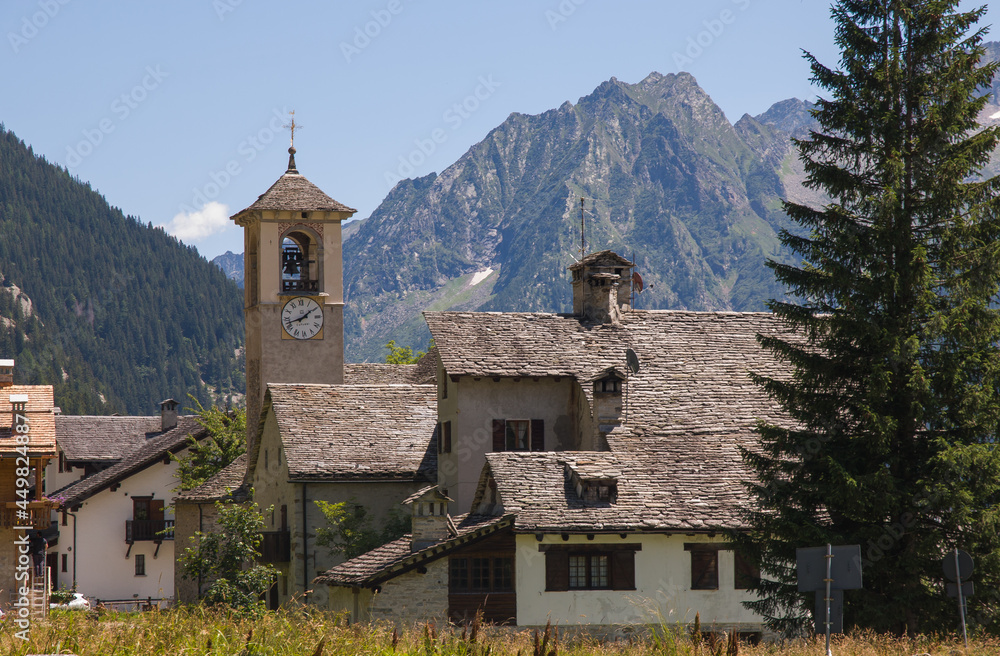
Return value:
<svg viewBox="0 0 1000 656">
<path fill-rule="evenodd" d="M 563 541 L 546 535 L 539 543 L 534 535 L 517 536 L 515 576 L 517 579 L 517 623 L 544 625 L 549 619 L 560 625 L 689 623 L 701 614 L 701 625 L 729 628 L 738 625 L 758 630 L 761 618 L 743 607 L 754 597 L 733 588 L 732 551 L 719 552 L 719 589 L 691 590 L 691 554 L 685 542 L 722 542 L 703 535 L 597 535 L 587 540 L 571 535 Z M 635 590 L 545 591 L 545 554 L 540 544 L 595 546 L 601 543 L 641 543 L 635 552 Z"/>
</svg>

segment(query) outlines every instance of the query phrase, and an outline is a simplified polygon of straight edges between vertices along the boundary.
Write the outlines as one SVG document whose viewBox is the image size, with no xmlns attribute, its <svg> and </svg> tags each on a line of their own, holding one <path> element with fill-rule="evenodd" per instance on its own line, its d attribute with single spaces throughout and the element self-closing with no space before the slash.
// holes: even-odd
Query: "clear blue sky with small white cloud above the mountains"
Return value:
<svg viewBox="0 0 1000 656">
<path fill-rule="evenodd" d="M 837 61 L 817 0 L 4 0 L 0 28 L 0 122 L 207 257 L 242 251 L 226 217 L 284 172 L 293 109 L 299 170 L 364 218 L 611 77 L 689 71 L 735 121 L 815 96 L 802 49 Z"/>
</svg>

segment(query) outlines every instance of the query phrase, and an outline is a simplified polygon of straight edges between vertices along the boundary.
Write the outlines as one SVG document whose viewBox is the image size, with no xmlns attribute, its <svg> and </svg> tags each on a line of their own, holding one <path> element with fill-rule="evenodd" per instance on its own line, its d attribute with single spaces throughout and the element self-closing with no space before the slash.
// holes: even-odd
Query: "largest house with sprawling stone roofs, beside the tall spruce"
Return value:
<svg viewBox="0 0 1000 656">
<path fill-rule="evenodd" d="M 739 447 L 787 422 L 748 373 L 768 313 L 637 311 L 632 264 L 570 267 L 574 313 L 426 312 L 441 424 L 436 542 L 409 538 L 331 568 L 356 620 L 522 626 L 690 622 L 758 632 L 739 529 Z M 455 515 L 454 519 L 452 515 Z"/>
</svg>

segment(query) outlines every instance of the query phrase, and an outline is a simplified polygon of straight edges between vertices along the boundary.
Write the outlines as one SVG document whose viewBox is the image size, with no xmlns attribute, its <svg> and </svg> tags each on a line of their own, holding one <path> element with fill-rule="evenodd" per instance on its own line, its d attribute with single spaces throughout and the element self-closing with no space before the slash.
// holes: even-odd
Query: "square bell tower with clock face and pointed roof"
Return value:
<svg viewBox="0 0 1000 656">
<path fill-rule="evenodd" d="M 248 450 L 268 383 L 344 382 L 341 222 L 355 212 L 298 172 L 293 145 L 284 175 L 230 217 L 243 228 Z"/>
</svg>

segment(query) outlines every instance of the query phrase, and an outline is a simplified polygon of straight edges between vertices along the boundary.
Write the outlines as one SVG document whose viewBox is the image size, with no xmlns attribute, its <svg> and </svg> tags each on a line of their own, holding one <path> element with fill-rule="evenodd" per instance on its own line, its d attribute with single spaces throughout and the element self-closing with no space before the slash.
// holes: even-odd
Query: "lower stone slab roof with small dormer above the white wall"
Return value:
<svg viewBox="0 0 1000 656">
<path fill-rule="evenodd" d="M 679 433 L 637 437 L 627 452 L 486 454 L 472 507 L 512 514 L 523 532 L 711 532 L 741 528 L 749 480 L 738 445 L 751 434 Z M 567 469 L 611 474 L 614 502 L 584 501 Z M 500 507 L 487 507 L 489 479 Z"/>
</svg>

